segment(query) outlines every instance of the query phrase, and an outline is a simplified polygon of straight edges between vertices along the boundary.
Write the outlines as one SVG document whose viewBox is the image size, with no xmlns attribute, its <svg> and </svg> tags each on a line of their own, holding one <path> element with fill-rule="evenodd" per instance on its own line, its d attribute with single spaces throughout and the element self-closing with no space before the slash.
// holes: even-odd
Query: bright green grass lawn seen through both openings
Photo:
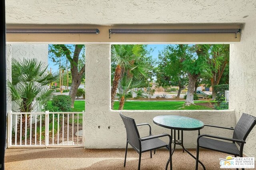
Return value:
<svg viewBox="0 0 256 170">
<path fill-rule="evenodd" d="M 208 101 L 207 101 L 208 102 Z M 205 101 L 195 101 L 195 103 L 207 103 Z M 212 110 L 210 107 L 200 105 L 184 106 L 184 101 L 126 101 L 124 110 Z M 75 101 L 73 112 L 82 112 L 85 101 Z M 119 102 L 114 103 L 114 110 L 118 110 Z"/>
</svg>

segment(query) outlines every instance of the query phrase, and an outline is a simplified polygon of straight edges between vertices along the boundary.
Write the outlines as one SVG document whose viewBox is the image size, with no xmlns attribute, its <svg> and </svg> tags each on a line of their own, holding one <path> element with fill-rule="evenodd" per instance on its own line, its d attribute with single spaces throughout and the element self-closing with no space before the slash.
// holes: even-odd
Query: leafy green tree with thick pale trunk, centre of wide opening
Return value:
<svg viewBox="0 0 256 170">
<path fill-rule="evenodd" d="M 194 90 L 199 77 L 210 74 L 210 67 L 207 63 L 209 49 L 210 45 L 208 44 L 191 46 L 188 44 L 169 45 L 166 49 L 166 53 L 168 53 L 171 59 L 165 59 L 164 62 L 167 65 L 167 72 L 172 73 L 170 74 L 172 76 L 167 75 L 168 79 L 164 78 L 167 82 L 170 81 L 170 77 L 173 79 L 173 82 L 176 82 L 175 79 L 188 78 L 186 105 L 194 104 Z"/>
</svg>

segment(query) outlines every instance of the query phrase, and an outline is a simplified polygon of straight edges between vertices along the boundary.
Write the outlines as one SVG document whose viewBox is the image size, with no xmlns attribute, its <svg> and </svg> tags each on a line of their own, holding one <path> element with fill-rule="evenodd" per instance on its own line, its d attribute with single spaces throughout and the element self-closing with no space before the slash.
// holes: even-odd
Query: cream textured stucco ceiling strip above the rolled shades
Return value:
<svg viewBox="0 0 256 170">
<path fill-rule="evenodd" d="M 243 23 L 255 10 L 255 0 L 6 0 L 6 23 Z"/>
</svg>

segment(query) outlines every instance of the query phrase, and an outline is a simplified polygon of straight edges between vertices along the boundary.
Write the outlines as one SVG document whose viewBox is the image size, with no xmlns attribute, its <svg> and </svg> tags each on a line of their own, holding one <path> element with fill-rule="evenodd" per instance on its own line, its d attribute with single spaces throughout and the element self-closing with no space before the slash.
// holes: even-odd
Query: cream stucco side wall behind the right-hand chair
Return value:
<svg viewBox="0 0 256 170">
<path fill-rule="evenodd" d="M 229 107 L 235 109 L 236 122 L 242 113 L 256 117 L 256 20 L 242 29 L 241 42 L 230 45 Z M 256 157 L 256 127 L 244 146 L 247 156 Z"/>
</svg>

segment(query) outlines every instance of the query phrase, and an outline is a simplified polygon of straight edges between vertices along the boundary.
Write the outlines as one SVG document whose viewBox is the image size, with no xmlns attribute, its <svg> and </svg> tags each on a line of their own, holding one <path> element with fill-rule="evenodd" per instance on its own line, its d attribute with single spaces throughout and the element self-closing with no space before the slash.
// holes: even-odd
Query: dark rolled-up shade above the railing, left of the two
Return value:
<svg viewBox="0 0 256 170">
<path fill-rule="evenodd" d="M 18 33 L 18 34 L 38 34 L 38 33 L 50 33 L 50 34 L 99 34 L 100 30 L 97 28 L 92 29 L 6 29 L 6 33 Z"/>
</svg>

